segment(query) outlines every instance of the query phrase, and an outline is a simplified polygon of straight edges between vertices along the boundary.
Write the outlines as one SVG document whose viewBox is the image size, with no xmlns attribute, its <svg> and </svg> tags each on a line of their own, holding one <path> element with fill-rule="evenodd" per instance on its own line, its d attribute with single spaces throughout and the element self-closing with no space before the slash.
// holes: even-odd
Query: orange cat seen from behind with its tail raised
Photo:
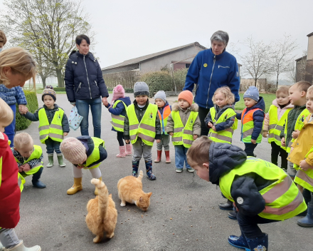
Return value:
<svg viewBox="0 0 313 251">
<path fill-rule="evenodd" d="M 100 242 L 106 232 L 106 237 L 112 238 L 117 222 L 117 210 L 109 195 L 107 186 L 101 180 L 92 179 L 91 183 L 98 189 L 99 195 L 87 203 L 86 223 L 89 230 L 97 235 L 93 242 Z"/>
</svg>

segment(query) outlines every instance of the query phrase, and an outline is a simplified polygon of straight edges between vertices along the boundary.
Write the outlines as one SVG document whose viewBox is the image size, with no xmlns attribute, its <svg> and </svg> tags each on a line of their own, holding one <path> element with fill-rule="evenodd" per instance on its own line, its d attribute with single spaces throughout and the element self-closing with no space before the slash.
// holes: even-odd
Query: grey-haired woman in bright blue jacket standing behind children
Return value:
<svg viewBox="0 0 313 251">
<path fill-rule="evenodd" d="M 204 118 L 213 107 L 212 97 L 217 88 L 228 86 L 239 101 L 240 78 L 236 58 L 226 51 L 229 36 L 216 31 L 211 36 L 211 48 L 200 51 L 193 59 L 186 76 L 184 90 L 193 90 L 196 84 L 195 103 L 199 106 L 201 135 L 208 135 Z"/>
</svg>

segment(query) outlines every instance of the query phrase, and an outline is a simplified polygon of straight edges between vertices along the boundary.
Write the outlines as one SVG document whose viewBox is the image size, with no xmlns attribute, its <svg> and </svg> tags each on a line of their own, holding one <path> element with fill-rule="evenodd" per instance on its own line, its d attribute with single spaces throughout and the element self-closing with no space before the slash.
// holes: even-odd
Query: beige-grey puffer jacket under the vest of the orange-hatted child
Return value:
<svg viewBox="0 0 313 251">
<path fill-rule="evenodd" d="M 171 106 L 171 111 L 179 111 L 179 116 L 181 117 L 181 122 L 183 123 L 183 125 L 185 126 L 190 112 L 191 111 L 196 111 L 198 112 L 198 105 L 196 103 L 193 103 L 191 106 L 189 106 L 189 108 L 187 108 L 186 110 L 183 110 L 178 103 L 174 103 Z M 166 125 L 166 133 L 172 133 L 174 131 L 174 121 L 173 118 L 171 117 L 171 114 L 169 115 L 169 118 L 167 119 L 167 125 Z M 197 116 L 196 121 L 194 121 L 193 123 L 193 133 L 195 135 L 200 136 L 201 135 L 201 122 L 200 122 L 200 118 L 199 116 Z"/>
</svg>

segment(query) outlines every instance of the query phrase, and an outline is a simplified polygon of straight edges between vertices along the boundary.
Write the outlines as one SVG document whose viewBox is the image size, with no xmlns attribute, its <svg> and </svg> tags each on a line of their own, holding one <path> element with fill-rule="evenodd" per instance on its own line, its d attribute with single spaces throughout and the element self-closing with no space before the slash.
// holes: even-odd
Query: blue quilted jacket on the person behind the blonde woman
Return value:
<svg viewBox="0 0 313 251">
<path fill-rule="evenodd" d="M 0 98 L 2 98 L 9 106 L 27 105 L 26 97 L 21 86 L 16 86 L 11 89 L 6 88 L 4 84 L 0 84 Z"/>
</svg>

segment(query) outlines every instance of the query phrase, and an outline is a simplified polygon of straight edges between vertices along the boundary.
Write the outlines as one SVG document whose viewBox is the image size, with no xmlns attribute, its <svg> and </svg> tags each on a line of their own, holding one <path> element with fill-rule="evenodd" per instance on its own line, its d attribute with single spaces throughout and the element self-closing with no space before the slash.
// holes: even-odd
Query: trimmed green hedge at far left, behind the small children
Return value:
<svg viewBox="0 0 313 251">
<path fill-rule="evenodd" d="M 24 91 L 28 111 L 34 113 L 38 109 L 38 100 L 36 93 L 33 91 Z M 18 112 L 18 105 L 16 104 L 16 130 L 25 130 L 31 125 L 31 121 L 28 121 L 24 116 Z"/>
</svg>

